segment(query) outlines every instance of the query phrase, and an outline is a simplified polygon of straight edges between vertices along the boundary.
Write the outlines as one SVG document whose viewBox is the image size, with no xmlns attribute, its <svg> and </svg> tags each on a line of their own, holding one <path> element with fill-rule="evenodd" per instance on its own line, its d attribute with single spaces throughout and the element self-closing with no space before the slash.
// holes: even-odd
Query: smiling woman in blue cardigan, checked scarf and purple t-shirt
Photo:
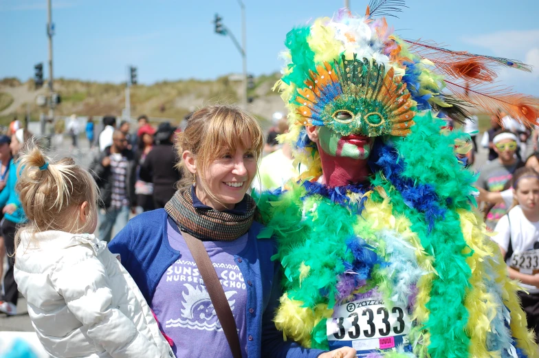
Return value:
<svg viewBox="0 0 539 358">
<path fill-rule="evenodd" d="M 246 194 L 263 145 L 259 124 L 239 109 L 194 113 L 177 142 L 184 173 L 179 190 L 164 210 L 131 220 L 110 249 L 120 254 L 177 357 L 233 357 L 184 236 L 201 240 L 210 256 L 242 357 L 355 357 L 352 348 L 322 353 L 284 342 L 272 322 L 281 295 L 279 266 L 271 260 L 275 245 L 257 238 L 263 226 Z"/>
</svg>

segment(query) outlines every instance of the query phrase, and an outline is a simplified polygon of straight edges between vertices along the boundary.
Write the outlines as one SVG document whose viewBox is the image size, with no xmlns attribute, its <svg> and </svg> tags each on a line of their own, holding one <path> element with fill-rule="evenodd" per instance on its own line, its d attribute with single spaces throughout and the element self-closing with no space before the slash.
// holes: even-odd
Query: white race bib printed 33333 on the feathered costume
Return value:
<svg viewBox="0 0 539 358">
<path fill-rule="evenodd" d="M 353 347 L 358 357 L 365 357 L 373 350 L 407 346 L 410 326 L 405 306 L 390 309 L 383 300 L 373 298 L 335 306 L 326 324 L 329 348 Z"/>
</svg>

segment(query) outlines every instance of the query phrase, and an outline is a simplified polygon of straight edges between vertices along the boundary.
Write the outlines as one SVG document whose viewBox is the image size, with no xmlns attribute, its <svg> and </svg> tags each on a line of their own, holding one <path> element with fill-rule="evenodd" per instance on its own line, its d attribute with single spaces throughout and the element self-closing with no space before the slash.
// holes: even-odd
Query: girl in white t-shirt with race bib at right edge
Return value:
<svg viewBox="0 0 539 358">
<path fill-rule="evenodd" d="M 507 262 L 509 277 L 520 280 L 525 291 L 518 295 L 526 312 L 528 328 L 539 333 L 539 174 L 520 168 L 513 177 L 514 198 L 518 205 L 502 216 L 493 240 Z"/>
</svg>

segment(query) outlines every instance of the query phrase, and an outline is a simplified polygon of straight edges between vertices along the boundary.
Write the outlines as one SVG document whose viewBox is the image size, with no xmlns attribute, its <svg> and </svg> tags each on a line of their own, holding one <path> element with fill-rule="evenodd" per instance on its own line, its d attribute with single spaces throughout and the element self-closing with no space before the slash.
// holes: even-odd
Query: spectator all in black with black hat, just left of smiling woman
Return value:
<svg viewBox="0 0 539 358">
<path fill-rule="evenodd" d="M 153 183 L 155 209 L 164 208 L 176 192 L 175 183 L 180 174 L 176 168 L 178 157 L 174 150 L 176 127 L 169 122 L 159 124 L 155 133 L 156 146 L 146 155 L 140 167 L 140 179 Z"/>
</svg>

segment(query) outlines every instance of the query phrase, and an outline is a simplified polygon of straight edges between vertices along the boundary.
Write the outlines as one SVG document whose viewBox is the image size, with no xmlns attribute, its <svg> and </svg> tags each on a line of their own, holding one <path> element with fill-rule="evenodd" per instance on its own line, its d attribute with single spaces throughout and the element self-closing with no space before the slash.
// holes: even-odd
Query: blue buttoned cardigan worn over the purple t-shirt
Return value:
<svg viewBox="0 0 539 358">
<path fill-rule="evenodd" d="M 109 244 L 114 254 L 120 254 L 122 265 L 131 273 L 140 291 L 151 306 L 157 283 L 166 269 L 179 258 L 168 243 L 168 214 L 164 209 L 135 216 Z M 234 260 L 247 282 L 247 352 L 248 357 L 311 358 L 322 350 L 305 349 L 294 342 L 284 342 L 283 333 L 273 322 L 281 297 L 280 265 L 271 260 L 276 252 L 274 240 L 257 239 L 263 226 L 252 223 L 248 244 Z M 254 309 L 253 313 L 249 308 Z"/>
</svg>

